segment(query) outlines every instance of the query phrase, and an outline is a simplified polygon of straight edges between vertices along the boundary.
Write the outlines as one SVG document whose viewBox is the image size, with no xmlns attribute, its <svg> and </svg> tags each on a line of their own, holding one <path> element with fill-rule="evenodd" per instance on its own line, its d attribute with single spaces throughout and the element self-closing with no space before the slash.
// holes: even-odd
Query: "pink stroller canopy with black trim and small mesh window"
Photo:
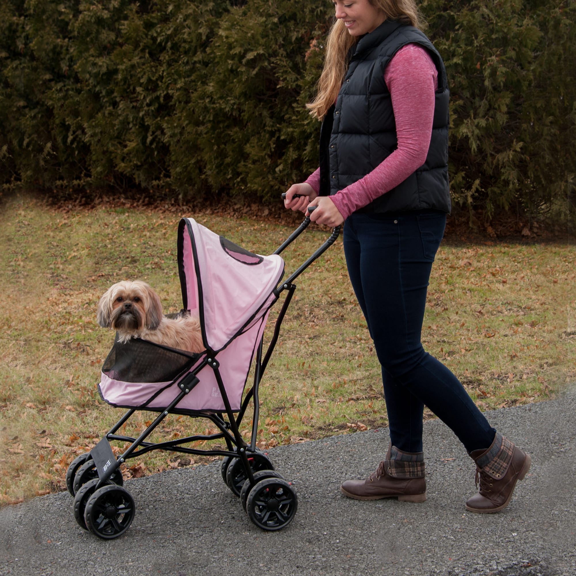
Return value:
<svg viewBox="0 0 576 576">
<path fill-rule="evenodd" d="M 284 274 L 280 256 L 248 252 L 192 218 L 178 226 L 178 268 L 184 308 L 215 352 L 266 314 Z"/>
</svg>

